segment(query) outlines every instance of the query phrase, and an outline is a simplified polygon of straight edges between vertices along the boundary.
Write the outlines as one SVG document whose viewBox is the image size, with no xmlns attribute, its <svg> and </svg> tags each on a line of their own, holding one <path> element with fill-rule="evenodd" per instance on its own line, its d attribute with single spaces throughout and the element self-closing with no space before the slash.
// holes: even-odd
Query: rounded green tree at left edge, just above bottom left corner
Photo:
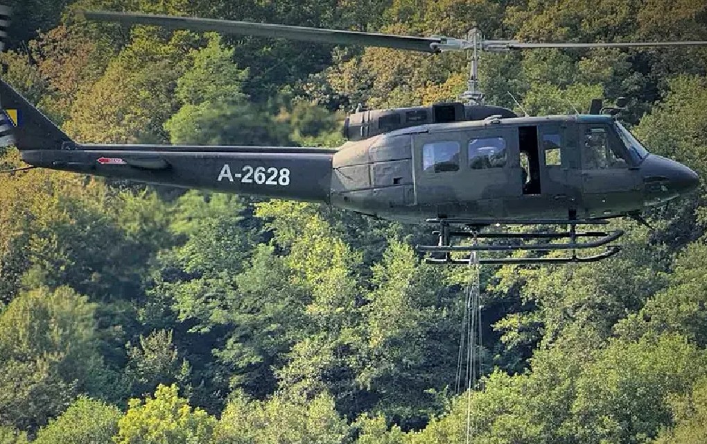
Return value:
<svg viewBox="0 0 707 444">
<path fill-rule="evenodd" d="M 23 293 L 1 312 L 1 423 L 34 430 L 78 390 L 105 388 L 94 313 L 95 304 L 66 287 Z"/>
</svg>

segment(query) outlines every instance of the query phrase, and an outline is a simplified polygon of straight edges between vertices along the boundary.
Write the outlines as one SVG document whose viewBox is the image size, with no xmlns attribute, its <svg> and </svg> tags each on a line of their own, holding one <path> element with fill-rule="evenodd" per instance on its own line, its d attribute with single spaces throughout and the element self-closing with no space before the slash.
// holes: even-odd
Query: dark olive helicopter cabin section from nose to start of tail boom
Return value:
<svg viewBox="0 0 707 444">
<path fill-rule="evenodd" d="M 587 142 L 595 135 L 603 144 Z M 479 163 L 479 140 L 503 153 Z M 440 144 L 443 157 L 456 157 L 435 169 L 431 151 Z M 597 162 L 592 156 L 602 149 L 610 153 Z M 677 162 L 633 155 L 612 118 L 551 116 L 425 125 L 346 144 L 334 154 L 330 200 L 407 222 L 567 217 L 571 210 L 602 218 L 660 205 L 695 183 Z"/>
</svg>

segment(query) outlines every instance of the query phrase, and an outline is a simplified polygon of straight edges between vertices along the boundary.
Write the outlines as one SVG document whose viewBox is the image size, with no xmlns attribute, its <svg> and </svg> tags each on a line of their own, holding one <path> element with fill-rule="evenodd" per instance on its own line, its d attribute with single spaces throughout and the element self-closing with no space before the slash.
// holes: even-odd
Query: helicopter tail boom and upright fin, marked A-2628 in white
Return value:
<svg viewBox="0 0 707 444">
<path fill-rule="evenodd" d="M 78 144 L 0 80 L 5 144 L 47 169 L 223 193 L 329 203 L 334 150 Z M 9 128 L 9 129 L 8 129 Z"/>
</svg>

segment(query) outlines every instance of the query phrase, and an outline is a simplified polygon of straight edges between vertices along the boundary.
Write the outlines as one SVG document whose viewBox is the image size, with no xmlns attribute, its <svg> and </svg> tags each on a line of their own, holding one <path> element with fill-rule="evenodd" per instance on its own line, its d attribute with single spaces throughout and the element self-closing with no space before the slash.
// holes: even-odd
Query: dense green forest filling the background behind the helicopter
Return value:
<svg viewBox="0 0 707 444">
<path fill-rule="evenodd" d="M 453 101 L 463 53 L 129 28 L 104 9 L 530 42 L 707 40 L 703 0 L 4 0 L 1 75 L 78 142 L 338 147 L 358 103 Z M 707 177 L 707 49 L 484 54 L 486 102 L 621 120 Z M 0 169 L 22 166 L 13 147 Z M 0 175 L 0 443 L 707 442 L 707 188 L 588 265 L 469 269 L 428 227 L 58 171 Z M 467 404 L 467 402 L 469 404 Z M 467 441 L 467 405 L 471 439 Z"/>
</svg>

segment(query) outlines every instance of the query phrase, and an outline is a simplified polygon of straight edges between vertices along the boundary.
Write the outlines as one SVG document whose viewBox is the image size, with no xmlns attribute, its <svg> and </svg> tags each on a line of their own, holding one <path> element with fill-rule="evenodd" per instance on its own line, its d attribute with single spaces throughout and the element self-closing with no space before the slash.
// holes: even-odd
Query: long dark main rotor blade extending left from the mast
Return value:
<svg viewBox="0 0 707 444">
<path fill-rule="evenodd" d="M 361 33 L 303 26 L 272 25 L 270 23 L 252 23 L 246 21 L 218 20 L 214 18 L 192 18 L 160 16 L 132 12 L 86 11 L 86 18 L 98 21 L 112 21 L 129 25 L 158 25 L 167 28 L 188 29 L 195 31 L 216 31 L 218 33 L 256 35 L 258 37 L 288 38 L 308 42 L 334 43 L 336 45 L 366 45 L 390 47 L 398 50 L 421 52 L 439 52 L 436 45 L 445 38 L 423 38 L 409 35 L 380 33 Z"/>
</svg>

